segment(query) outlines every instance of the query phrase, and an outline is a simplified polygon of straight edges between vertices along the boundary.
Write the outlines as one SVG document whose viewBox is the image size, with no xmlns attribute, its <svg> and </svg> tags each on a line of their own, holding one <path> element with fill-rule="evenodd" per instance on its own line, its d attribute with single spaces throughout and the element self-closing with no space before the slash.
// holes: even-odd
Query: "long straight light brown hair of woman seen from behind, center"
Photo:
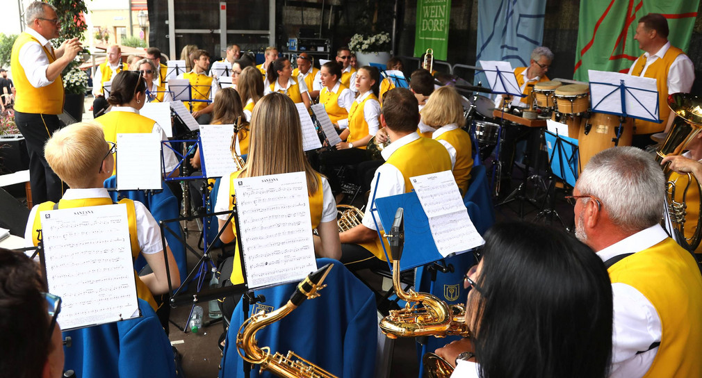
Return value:
<svg viewBox="0 0 702 378">
<path fill-rule="evenodd" d="M 312 169 L 303 152 L 298 109 L 290 97 L 270 93 L 253 107 L 249 157 L 241 177 L 292 172 L 305 172 L 307 192 L 310 195 L 317 193 L 318 173 Z"/>
</svg>

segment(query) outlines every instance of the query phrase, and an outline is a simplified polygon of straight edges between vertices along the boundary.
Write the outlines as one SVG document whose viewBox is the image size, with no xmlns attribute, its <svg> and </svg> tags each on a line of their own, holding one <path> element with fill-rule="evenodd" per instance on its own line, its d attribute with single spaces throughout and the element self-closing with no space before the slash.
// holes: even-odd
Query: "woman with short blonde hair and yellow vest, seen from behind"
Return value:
<svg viewBox="0 0 702 378">
<path fill-rule="evenodd" d="M 444 144 L 451 156 L 453 177 L 461 194 L 468 191 L 470 170 L 473 168 L 470 135 L 461 127 L 465 124 L 461 96 L 451 86 L 443 86 L 429 96 L 422 109 L 422 121 L 435 128 L 432 138 Z"/>
</svg>

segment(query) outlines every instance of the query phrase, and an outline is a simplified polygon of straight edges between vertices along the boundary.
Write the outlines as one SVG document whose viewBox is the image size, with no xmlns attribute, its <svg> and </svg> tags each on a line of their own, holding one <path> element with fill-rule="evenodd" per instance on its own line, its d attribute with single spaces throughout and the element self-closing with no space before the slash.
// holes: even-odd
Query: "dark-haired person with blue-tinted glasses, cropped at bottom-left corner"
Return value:
<svg viewBox="0 0 702 378">
<path fill-rule="evenodd" d="M 0 372 L 3 377 L 63 375 L 60 298 L 46 293 L 39 266 L 0 248 Z"/>
</svg>

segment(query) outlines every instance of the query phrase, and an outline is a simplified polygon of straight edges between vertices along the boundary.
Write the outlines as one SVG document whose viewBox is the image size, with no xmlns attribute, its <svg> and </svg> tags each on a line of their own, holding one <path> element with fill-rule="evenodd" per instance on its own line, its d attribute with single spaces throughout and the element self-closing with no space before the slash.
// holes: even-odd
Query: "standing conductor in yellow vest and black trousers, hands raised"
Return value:
<svg viewBox="0 0 702 378">
<path fill-rule="evenodd" d="M 44 158 L 44 143 L 60 128 L 63 112 L 61 72 L 81 50 L 77 38 L 67 39 L 59 48 L 51 46 L 58 38 L 59 21 L 50 4 L 34 1 L 25 11 L 27 29 L 15 40 L 11 67 L 17 95 L 15 123 L 25 137 L 29 153 L 29 184 L 35 203 L 58 201 L 67 188 Z"/>
</svg>

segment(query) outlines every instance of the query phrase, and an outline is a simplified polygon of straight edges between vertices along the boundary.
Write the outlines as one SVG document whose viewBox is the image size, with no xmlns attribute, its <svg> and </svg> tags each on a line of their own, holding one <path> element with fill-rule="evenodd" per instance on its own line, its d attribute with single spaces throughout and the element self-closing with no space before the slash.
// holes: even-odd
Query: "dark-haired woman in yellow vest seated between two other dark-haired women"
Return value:
<svg viewBox="0 0 702 378">
<path fill-rule="evenodd" d="M 322 80 L 319 103 L 324 104 L 324 110 L 326 110 L 326 114 L 329 114 L 331 123 L 336 124 L 338 121 L 348 118 L 354 94 L 339 81 L 341 66 L 338 63 L 326 62 L 319 70 L 319 78 Z"/>
</svg>

